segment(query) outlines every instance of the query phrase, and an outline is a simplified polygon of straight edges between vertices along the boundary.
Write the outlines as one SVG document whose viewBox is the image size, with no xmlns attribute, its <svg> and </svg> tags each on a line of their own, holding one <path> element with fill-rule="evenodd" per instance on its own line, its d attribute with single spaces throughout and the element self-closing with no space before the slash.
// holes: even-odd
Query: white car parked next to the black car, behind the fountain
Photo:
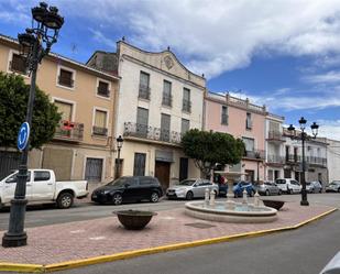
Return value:
<svg viewBox="0 0 340 274">
<path fill-rule="evenodd" d="M 193 198 L 205 197 L 207 188 L 209 188 L 209 191 L 213 190 L 218 195 L 218 185 L 208 179 L 184 179 L 177 185 L 167 188 L 166 196 L 168 199 L 185 198 L 191 200 Z"/>
</svg>

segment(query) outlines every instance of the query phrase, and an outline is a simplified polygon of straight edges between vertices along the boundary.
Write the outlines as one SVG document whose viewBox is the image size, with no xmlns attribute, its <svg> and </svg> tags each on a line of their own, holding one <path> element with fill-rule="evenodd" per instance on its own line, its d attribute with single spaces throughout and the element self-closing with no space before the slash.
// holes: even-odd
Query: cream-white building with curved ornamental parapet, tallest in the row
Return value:
<svg viewBox="0 0 340 274">
<path fill-rule="evenodd" d="M 118 42 L 117 53 L 96 52 L 87 64 L 121 77 L 116 136 L 124 142 L 119 174 L 156 176 L 164 189 L 200 177 L 182 151 L 180 136 L 202 128 L 206 79 L 185 68 L 169 50 L 150 53 L 124 41 Z"/>
</svg>

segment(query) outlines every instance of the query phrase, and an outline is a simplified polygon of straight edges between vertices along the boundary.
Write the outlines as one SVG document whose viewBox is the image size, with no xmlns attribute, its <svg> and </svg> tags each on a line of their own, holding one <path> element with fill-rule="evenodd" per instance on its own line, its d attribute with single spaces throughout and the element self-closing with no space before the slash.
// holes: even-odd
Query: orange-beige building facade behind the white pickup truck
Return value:
<svg viewBox="0 0 340 274">
<path fill-rule="evenodd" d="M 0 35 L 0 70 L 30 83 L 18 42 Z M 114 106 L 119 77 L 50 54 L 39 66 L 36 85 L 44 90 L 62 121 L 52 142 L 29 155 L 29 166 L 52 168 L 57 179 L 108 182 L 114 168 Z"/>
</svg>

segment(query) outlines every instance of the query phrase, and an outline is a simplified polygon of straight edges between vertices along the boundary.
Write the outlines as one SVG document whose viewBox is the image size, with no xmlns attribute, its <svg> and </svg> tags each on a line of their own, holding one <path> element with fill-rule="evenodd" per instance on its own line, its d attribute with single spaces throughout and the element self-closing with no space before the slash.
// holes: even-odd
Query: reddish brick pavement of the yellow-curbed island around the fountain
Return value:
<svg viewBox="0 0 340 274">
<path fill-rule="evenodd" d="M 138 205 L 136 205 L 138 208 Z M 116 216 L 26 229 L 29 244 L 0 248 L 0 262 L 52 264 L 123 251 L 155 248 L 244 232 L 294 226 L 330 210 L 326 206 L 300 207 L 287 202 L 272 223 L 223 223 L 188 217 L 184 209 L 161 211 L 141 231 L 124 230 Z M 187 223 L 206 222 L 213 227 L 199 229 Z M 4 231 L 0 231 L 2 238 Z"/>
</svg>

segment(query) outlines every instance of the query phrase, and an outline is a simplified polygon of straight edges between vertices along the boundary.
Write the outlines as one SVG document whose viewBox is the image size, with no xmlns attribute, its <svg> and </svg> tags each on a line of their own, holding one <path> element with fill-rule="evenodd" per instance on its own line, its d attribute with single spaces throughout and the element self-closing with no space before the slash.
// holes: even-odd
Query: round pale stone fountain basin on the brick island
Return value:
<svg viewBox="0 0 340 274">
<path fill-rule="evenodd" d="M 190 201 L 185 204 L 185 212 L 194 218 L 220 221 L 220 222 L 272 222 L 277 219 L 277 210 L 274 208 L 254 205 L 244 205 L 241 202 L 229 204 L 226 201 L 216 201 L 215 206 L 209 206 L 205 201 Z"/>
</svg>

